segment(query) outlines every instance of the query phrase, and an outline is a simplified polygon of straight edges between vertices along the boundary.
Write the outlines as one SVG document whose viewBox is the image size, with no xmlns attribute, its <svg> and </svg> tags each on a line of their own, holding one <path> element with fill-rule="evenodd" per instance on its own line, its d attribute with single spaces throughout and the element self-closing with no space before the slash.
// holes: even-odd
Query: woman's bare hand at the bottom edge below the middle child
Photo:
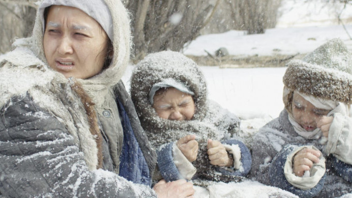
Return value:
<svg viewBox="0 0 352 198">
<path fill-rule="evenodd" d="M 153 190 L 156 192 L 158 198 L 193 197 L 193 194 L 195 193 L 193 184 L 186 182 L 184 179 L 168 183 L 166 183 L 164 179 L 160 180 L 154 185 Z"/>
</svg>

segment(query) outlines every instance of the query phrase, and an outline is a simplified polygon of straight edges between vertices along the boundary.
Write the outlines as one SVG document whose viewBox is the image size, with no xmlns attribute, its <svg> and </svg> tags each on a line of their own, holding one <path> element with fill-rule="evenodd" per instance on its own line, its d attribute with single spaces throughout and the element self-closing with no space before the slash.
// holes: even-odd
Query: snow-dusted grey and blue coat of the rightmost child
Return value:
<svg viewBox="0 0 352 198">
<path fill-rule="evenodd" d="M 352 166 L 342 163 L 334 156 L 326 158 L 325 176 L 319 179 L 313 188 L 301 190 L 287 182 L 283 170 L 286 157 L 303 145 L 313 145 L 321 151 L 323 149 L 319 139 L 308 140 L 299 136 L 289 121 L 287 111 L 283 110 L 278 118 L 255 134 L 251 146 L 253 166 L 249 177 L 291 191 L 300 197 L 337 197 L 351 192 L 351 183 L 343 177 L 351 178 Z M 337 163 L 340 163 L 340 166 L 336 166 Z"/>
</svg>

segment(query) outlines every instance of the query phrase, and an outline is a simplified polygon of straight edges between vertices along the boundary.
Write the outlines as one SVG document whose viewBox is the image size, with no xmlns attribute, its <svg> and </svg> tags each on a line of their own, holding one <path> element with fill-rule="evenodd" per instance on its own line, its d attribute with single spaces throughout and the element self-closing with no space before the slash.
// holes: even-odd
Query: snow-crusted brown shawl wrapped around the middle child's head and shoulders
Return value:
<svg viewBox="0 0 352 198">
<path fill-rule="evenodd" d="M 168 78 L 183 83 L 194 92 L 196 113 L 191 120 L 160 118 L 150 104 L 148 95 L 151 87 Z M 236 132 L 239 128 L 237 116 L 207 100 L 206 82 L 199 66 L 178 52 L 157 52 L 140 61 L 131 77 L 131 97 L 142 127 L 154 146 L 189 134 L 195 134 L 200 143 L 207 138 L 220 140 L 224 134 Z"/>
</svg>

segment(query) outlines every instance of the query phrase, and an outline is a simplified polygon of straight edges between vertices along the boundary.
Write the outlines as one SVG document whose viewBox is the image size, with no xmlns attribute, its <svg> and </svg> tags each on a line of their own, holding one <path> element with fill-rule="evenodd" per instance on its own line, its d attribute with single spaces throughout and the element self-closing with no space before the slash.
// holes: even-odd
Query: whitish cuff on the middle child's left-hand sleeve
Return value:
<svg viewBox="0 0 352 198">
<path fill-rule="evenodd" d="M 186 180 L 192 179 L 192 177 L 196 174 L 197 169 L 183 155 L 182 151 L 177 147 L 176 143 L 172 145 L 172 154 L 174 158 L 174 163 L 181 176 Z"/>
</svg>

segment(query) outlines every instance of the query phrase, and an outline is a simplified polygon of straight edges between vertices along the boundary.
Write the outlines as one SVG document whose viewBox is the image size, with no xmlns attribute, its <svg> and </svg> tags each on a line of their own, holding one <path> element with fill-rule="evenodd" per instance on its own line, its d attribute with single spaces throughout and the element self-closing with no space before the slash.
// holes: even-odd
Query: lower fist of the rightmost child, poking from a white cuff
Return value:
<svg viewBox="0 0 352 198">
<path fill-rule="evenodd" d="M 313 163 L 319 162 L 319 157 L 322 155 L 320 151 L 305 148 L 299 151 L 293 160 L 293 171 L 294 173 L 302 177 L 305 171 L 310 171 Z"/>
</svg>

